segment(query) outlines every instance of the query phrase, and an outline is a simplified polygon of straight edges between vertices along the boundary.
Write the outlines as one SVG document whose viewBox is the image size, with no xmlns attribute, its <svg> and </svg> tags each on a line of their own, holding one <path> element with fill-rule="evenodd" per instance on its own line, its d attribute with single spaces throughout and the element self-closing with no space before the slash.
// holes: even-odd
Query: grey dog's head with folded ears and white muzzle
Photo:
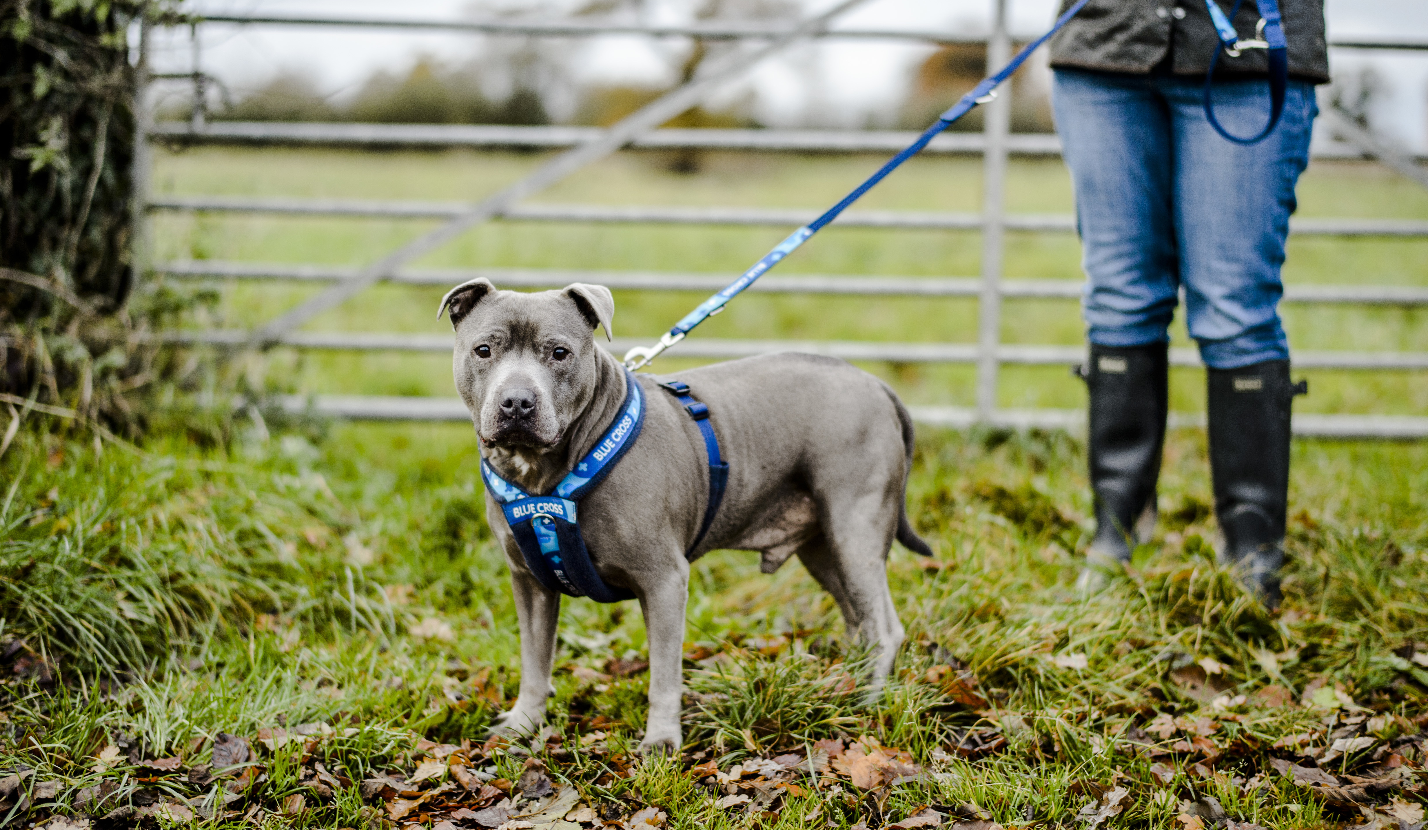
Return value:
<svg viewBox="0 0 1428 830">
<path fill-rule="evenodd" d="M 456 387 L 487 446 L 560 444 L 595 391 L 594 330 L 608 339 L 614 310 L 610 289 L 584 283 L 526 294 L 477 279 L 441 297 L 437 319 L 450 311 L 456 327 Z"/>
</svg>

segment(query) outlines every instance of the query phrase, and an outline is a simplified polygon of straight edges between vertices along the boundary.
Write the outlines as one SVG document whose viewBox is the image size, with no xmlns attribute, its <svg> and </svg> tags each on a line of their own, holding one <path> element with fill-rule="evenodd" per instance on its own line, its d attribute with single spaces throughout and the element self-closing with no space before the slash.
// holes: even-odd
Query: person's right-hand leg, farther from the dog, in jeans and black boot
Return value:
<svg viewBox="0 0 1428 830">
<path fill-rule="evenodd" d="M 1314 87 L 1291 83 L 1279 126 L 1234 144 L 1201 106 L 1201 84 L 1164 79 L 1174 110 L 1175 217 L 1187 323 L 1208 370 L 1210 461 L 1221 559 L 1240 563 L 1268 604 L 1278 570 L 1289 486 L 1289 346 L 1279 323 L 1279 267 L 1308 164 Z M 1215 116 L 1250 134 L 1269 113 L 1265 81 L 1217 83 Z"/>
</svg>

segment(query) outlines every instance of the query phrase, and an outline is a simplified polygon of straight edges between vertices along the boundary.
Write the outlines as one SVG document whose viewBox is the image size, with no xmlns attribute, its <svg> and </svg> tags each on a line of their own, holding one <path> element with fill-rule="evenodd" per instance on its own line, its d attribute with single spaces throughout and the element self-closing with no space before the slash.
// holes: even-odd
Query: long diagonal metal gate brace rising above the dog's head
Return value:
<svg viewBox="0 0 1428 830">
<path fill-rule="evenodd" d="M 361 269 L 354 276 L 323 290 L 317 296 L 303 301 L 296 309 L 284 313 L 251 334 L 244 349 L 263 349 L 277 343 L 288 331 L 307 323 L 314 316 L 338 306 L 350 297 L 361 293 L 373 284 L 391 277 L 401 266 L 423 257 L 471 227 L 496 219 L 510 210 L 517 201 L 543 190 L 581 167 L 604 159 L 620 150 L 638 136 L 658 127 L 690 107 L 698 104 L 717 84 L 735 77 L 765 57 L 791 46 L 793 43 L 823 30 L 834 17 L 864 3 L 865 0 L 843 0 L 827 11 L 810 17 L 778 39 L 753 50 L 740 50 L 728 56 L 715 69 L 701 73 L 690 83 L 665 93 L 650 104 L 611 126 L 584 144 L 580 144 L 560 156 L 551 159 L 534 173 L 504 190 L 474 204 L 464 214 L 453 219 L 441 227 L 401 246 L 381 260 Z"/>
</svg>

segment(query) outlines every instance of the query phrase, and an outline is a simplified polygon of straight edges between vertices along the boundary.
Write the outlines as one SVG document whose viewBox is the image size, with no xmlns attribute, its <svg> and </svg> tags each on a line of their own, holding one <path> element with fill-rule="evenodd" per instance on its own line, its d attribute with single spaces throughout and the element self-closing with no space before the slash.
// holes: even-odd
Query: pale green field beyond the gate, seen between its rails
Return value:
<svg viewBox="0 0 1428 830">
<path fill-rule="evenodd" d="M 196 149 L 161 154 L 156 187 L 174 194 L 247 194 L 474 200 L 518 179 L 544 159 L 538 153 L 357 153 L 336 150 Z M 710 153 L 698 174 L 671 173 L 658 154 L 623 154 L 541 193 L 538 201 L 801 207 L 823 210 L 881 161 L 864 156 L 751 156 Z M 1071 187 L 1058 160 L 1018 159 L 1008 177 L 1008 210 L 1070 213 Z M 1428 191 L 1379 167 L 1315 163 L 1299 187 L 1299 216 L 1428 219 Z M 914 159 L 873 190 L 860 209 L 975 211 L 980 163 L 967 157 Z M 237 214 L 160 214 L 161 259 L 223 259 L 264 263 L 361 264 L 393 250 L 430 221 L 301 219 Z M 471 230 L 423 260 L 433 267 L 565 267 L 671 270 L 734 274 L 763 256 L 788 229 L 687 226 L 581 226 L 493 223 Z M 970 231 L 825 230 L 780 273 L 974 276 L 981 243 Z M 1399 239 L 1289 240 L 1289 284 L 1428 284 L 1421 263 L 1428 241 Z M 1080 280 L 1080 246 L 1071 234 L 1014 233 L 1008 277 Z M 196 326 L 251 326 L 311 296 L 316 287 L 228 284 L 211 314 Z M 441 333 L 434 320 L 441 289 L 386 286 L 316 319 L 308 329 Z M 694 293 L 620 291 L 615 330 L 654 339 L 704 297 Z M 830 340 L 952 341 L 977 339 L 974 300 L 780 297 L 745 294 L 737 313 L 705 323 L 698 337 L 801 337 Z M 1289 341 L 1301 350 L 1428 350 L 1422 309 L 1352 306 L 1284 307 Z M 1005 343 L 1080 344 L 1075 301 L 1008 300 Z M 1172 330 L 1190 346 L 1184 324 Z M 697 361 L 664 359 L 675 370 Z M 911 403 L 970 406 L 974 370 L 967 366 L 865 366 Z M 450 361 L 436 356 L 308 353 L 276 350 L 267 377 L 311 393 L 451 396 Z M 1171 404 L 1204 409 L 1200 370 L 1175 370 Z M 1419 414 L 1428 411 L 1422 373 L 1304 373 L 1312 394 L 1299 411 Z M 1081 407 L 1084 387 L 1062 367 L 1004 367 L 1000 403 L 1007 407 Z"/>
</svg>

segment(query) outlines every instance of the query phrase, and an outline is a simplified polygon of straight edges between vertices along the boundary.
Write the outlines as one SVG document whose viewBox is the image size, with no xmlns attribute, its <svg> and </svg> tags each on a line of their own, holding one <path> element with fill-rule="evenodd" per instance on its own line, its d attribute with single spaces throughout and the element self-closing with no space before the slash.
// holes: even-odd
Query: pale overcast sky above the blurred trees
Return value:
<svg viewBox="0 0 1428 830">
<path fill-rule="evenodd" d="M 694 0 L 647 0 L 663 20 L 683 21 Z M 1127 0 L 1145 1 L 1145 0 Z M 1194 0 L 1182 0 L 1194 1 Z M 925 29 L 932 31 L 984 31 L 992 0 L 867 0 L 838 26 L 858 29 Z M 568 0 L 526 3 L 506 0 L 506 10 L 570 6 Z M 830 0 L 803 0 L 805 11 L 827 7 Z M 471 0 L 200 0 L 191 9 L 210 13 L 273 16 L 360 16 L 448 20 L 494 9 Z M 1014 33 L 1038 33 L 1052 20 L 1055 0 L 1011 0 Z M 1385 36 L 1428 40 L 1425 0 L 1328 0 L 1329 34 Z M 538 16 L 551 16 L 550 11 Z M 360 30 L 347 27 L 283 27 L 206 24 L 200 27 L 203 67 L 221 77 L 236 93 L 261 86 L 278 71 L 303 71 L 337 99 L 351 94 L 378 69 L 404 71 L 423 54 L 458 63 L 480 49 L 481 40 L 463 34 Z M 570 64 L 584 80 L 667 83 L 670 51 L 680 40 L 601 37 L 568 40 Z M 928 54 L 927 46 L 907 41 L 821 41 L 790 49 L 750 73 L 725 97 L 755 93 L 755 114 L 771 126 L 817 123 L 865 126 L 885 123 L 907 86 L 908 71 Z M 160 71 L 190 69 L 187 30 L 156 37 L 153 57 Z M 1335 50 L 1335 76 L 1372 64 L 1387 84 L 1375 110 L 1375 123 L 1419 151 L 1428 151 L 1428 50 Z"/>
</svg>

